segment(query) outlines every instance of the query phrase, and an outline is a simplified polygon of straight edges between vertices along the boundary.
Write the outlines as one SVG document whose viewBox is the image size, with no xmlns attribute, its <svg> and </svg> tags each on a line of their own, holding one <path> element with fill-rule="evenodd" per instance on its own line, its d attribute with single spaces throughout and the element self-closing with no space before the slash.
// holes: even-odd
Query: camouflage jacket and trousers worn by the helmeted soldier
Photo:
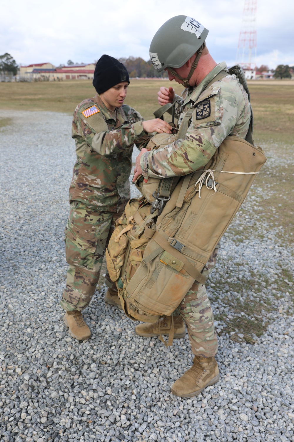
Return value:
<svg viewBox="0 0 294 442">
<path fill-rule="evenodd" d="M 195 108 L 186 137 L 141 156 L 145 179 L 187 175 L 207 164 L 228 135 L 245 139 L 251 108 L 248 95 L 237 77 L 228 74 L 205 90 L 221 70 L 227 70 L 225 63 L 212 69 L 193 91 L 188 88 L 183 91 L 183 115 L 190 106 Z M 179 122 L 181 120 L 179 118 Z M 217 250 L 212 253 L 203 274 L 212 271 L 216 257 Z M 216 332 L 205 286 L 195 281 L 177 312 L 186 322 L 193 353 L 203 357 L 214 356 L 217 351 Z"/>
</svg>

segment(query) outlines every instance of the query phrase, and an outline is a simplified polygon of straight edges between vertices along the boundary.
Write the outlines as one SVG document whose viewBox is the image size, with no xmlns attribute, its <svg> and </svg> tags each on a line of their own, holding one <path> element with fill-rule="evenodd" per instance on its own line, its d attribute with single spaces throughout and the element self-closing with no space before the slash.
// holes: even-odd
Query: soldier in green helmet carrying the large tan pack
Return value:
<svg viewBox="0 0 294 442">
<path fill-rule="evenodd" d="M 204 167 L 229 135 L 246 138 L 251 118 L 248 94 L 226 63 L 213 60 L 205 45 L 207 35 L 208 30 L 196 19 L 178 15 L 167 20 L 153 37 L 150 60 L 154 68 L 166 70 L 169 80 L 185 86 L 178 119 L 185 136 L 161 149 L 142 149 L 134 180 L 139 175 L 145 179 L 188 175 Z M 172 87 L 158 92 L 160 105 L 179 98 Z M 190 114 L 193 111 L 190 120 L 185 118 L 188 110 Z M 216 265 L 217 251 L 218 246 L 204 267 L 205 276 Z M 186 324 L 194 361 L 171 391 L 180 397 L 196 396 L 220 377 L 213 313 L 204 285 L 194 282 L 174 312 L 174 324 L 174 337 L 186 334 Z M 164 316 L 156 324 L 140 324 L 135 330 L 141 336 L 169 335 L 171 317 Z"/>
</svg>

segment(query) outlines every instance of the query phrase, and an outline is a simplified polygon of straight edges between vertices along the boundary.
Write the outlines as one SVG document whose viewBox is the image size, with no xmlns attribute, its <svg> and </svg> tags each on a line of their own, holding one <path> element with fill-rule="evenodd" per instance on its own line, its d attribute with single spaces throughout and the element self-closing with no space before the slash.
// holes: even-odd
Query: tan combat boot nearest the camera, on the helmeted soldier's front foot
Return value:
<svg viewBox="0 0 294 442">
<path fill-rule="evenodd" d="M 216 358 L 195 356 L 193 366 L 186 371 L 171 387 L 175 396 L 193 397 L 200 394 L 208 385 L 215 384 L 220 379 Z"/>
</svg>

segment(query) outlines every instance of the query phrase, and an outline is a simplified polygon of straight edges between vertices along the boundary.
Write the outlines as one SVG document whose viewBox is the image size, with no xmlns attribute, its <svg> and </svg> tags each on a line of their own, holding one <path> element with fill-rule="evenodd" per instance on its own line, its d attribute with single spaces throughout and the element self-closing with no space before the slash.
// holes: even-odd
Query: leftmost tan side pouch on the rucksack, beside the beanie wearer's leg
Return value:
<svg viewBox="0 0 294 442">
<path fill-rule="evenodd" d="M 120 269 L 123 266 L 127 245 L 129 243 L 126 234 L 123 233 L 123 235 L 119 236 L 124 228 L 125 225 L 118 225 L 115 228 L 105 251 L 107 270 L 109 277 L 113 282 L 117 281 L 119 278 Z"/>
</svg>

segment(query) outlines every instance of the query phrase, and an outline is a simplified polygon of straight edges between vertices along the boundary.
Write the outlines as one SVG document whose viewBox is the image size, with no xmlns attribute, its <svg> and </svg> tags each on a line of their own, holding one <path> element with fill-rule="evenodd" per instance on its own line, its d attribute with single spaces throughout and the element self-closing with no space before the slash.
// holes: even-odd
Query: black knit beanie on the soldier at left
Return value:
<svg viewBox="0 0 294 442">
<path fill-rule="evenodd" d="M 130 77 L 123 63 L 110 55 L 102 55 L 97 61 L 93 78 L 93 86 L 98 94 L 102 94 L 123 81 L 130 84 Z"/>
</svg>

